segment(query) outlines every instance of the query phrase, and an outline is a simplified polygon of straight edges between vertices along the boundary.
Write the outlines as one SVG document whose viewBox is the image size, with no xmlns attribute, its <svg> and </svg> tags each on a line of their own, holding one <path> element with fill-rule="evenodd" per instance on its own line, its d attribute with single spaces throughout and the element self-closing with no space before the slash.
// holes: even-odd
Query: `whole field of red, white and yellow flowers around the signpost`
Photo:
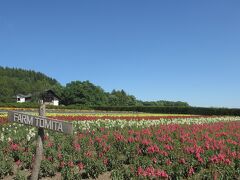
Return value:
<svg viewBox="0 0 240 180">
<path fill-rule="evenodd" d="M 45 131 L 41 178 L 240 178 L 240 117 L 47 116 L 72 121 L 74 134 Z M 0 179 L 25 179 L 31 173 L 37 130 L 6 123 L 4 113 L 0 122 Z"/>
</svg>

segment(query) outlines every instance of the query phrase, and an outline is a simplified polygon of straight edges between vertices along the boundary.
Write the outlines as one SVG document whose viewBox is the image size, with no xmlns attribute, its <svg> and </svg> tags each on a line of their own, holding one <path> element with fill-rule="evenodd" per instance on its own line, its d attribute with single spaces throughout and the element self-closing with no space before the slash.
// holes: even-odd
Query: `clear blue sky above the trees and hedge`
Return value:
<svg viewBox="0 0 240 180">
<path fill-rule="evenodd" d="M 240 1 L 0 1 L 0 65 L 240 108 Z"/>
</svg>

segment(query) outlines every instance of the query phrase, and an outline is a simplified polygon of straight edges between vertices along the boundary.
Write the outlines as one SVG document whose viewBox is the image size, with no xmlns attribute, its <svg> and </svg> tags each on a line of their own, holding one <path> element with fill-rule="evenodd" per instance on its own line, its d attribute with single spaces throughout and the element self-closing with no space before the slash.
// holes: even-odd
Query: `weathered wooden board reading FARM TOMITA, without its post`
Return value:
<svg viewBox="0 0 240 180">
<path fill-rule="evenodd" d="M 70 122 L 50 119 L 42 116 L 33 116 L 16 111 L 8 112 L 8 121 L 34 126 L 37 128 L 49 129 L 65 134 L 73 133 L 73 125 Z"/>
</svg>

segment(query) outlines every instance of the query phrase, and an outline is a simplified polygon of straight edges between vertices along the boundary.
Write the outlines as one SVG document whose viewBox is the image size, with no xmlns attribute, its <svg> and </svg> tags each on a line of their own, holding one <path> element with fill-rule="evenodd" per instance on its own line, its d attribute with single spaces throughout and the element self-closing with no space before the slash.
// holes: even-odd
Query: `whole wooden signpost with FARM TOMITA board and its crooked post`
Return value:
<svg viewBox="0 0 240 180">
<path fill-rule="evenodd" d="M 40 108 L 39 108 L 39 116 L 33 116 L 33 115 L 29 115 L 29 114 L 25 114 L 17 111 L 8 112 L 9 122 L 20 123 L 20 124 L 34 126 L 38 128 L 36 156 L 34 159 L 31 180 L 38 179 L 40 165 L 43 157 L 44 129 L 65 133 L 65 134 L 73 133 L 72 123 L 45 117 L 45 111 L 46 111 L 45 106 L 46 106 L 45 103 L 41 102 Z"/>
</svg>

